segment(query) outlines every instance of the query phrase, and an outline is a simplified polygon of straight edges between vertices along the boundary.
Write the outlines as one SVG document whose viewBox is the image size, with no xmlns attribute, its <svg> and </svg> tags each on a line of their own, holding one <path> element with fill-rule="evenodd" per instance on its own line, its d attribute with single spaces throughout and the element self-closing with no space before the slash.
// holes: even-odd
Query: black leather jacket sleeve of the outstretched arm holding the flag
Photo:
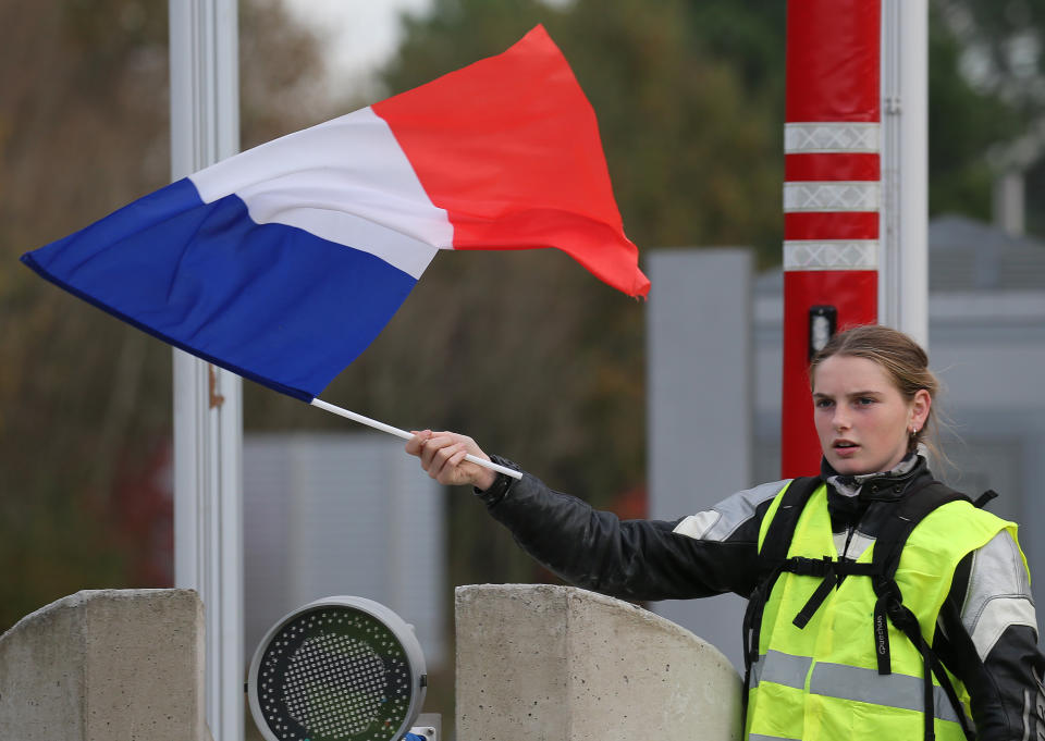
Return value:
<svg viewBox="0 0 1045 741">
<path fill-rule="evenodd" d="M 477 494 L 545 568 L 578 586 L 626 600 L 683 600 L 724 592 L 748 596 L 757 576 L 759 523 L 769 506 L 766 502 L 761 511 L 736 506 L 739 519 L 729 538 L 709 539 L 693 521 L 717 522 L 721 512 L 716 517 L 709 510 L 676 521 L 622 521 L 552 491 L 528 473 L 520 481 L 499 477 Z"/>
</svg>

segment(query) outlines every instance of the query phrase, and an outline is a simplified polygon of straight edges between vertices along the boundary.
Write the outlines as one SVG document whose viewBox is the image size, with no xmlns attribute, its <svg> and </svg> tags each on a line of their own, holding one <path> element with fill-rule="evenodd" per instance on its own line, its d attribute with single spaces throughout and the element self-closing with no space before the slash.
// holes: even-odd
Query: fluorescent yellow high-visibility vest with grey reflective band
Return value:
<svg viewBox="0 0 1045 741">
<path fill-rule="evenodd" d="M 786 491 L 785 486 L 766 511 L 759 533 L 760 552 Z M 926 643 L 932 643 L 936 619 L 959 561 L 1001 530 L 1008 530 L 1016 539 L 1013 522 L 958 501 L 926 515 L 907 539 L 896 583 L 903 605 L 918 617 Z M 857 563 L 870 564 L 873 549 L 874 545 L 866 548 Z M 787 556 L 838 558 L 827 511 L 826 485 L 810 496 L 795 527 Z M 822 581 L 784 572 L 766 600 L 759 660 L 751 666 L 747 738 L 751 741 L 921 739 L 923 658 L 911 641 L 890 623 L 893 672 L 878 674 L 871 627 L 876 596 L 870 578 L 845 578 L 804 628 L 792 623 Z M 969 714 L 969 693 L 957 678 L 950 679 Z M 963 741 L 955 709 L 935 677 L 933 683 L 936 738 Z"/>
</svg>

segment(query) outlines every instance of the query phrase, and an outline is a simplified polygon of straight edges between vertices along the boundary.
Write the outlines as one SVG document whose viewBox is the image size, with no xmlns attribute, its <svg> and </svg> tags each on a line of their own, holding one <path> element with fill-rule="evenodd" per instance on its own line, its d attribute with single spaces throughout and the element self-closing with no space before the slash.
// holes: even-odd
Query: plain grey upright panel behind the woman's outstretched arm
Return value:
<svg viewBox="0 0 1045 741">
<path fill-rule="evenodd" d="M 647 268 L 650 516 L 673 520 L 752 483 L 752 260 L 745 249 L 653 250 Z M 742 668 L 743 605 L 724 595 L 654 608 Z"/>
</svg>

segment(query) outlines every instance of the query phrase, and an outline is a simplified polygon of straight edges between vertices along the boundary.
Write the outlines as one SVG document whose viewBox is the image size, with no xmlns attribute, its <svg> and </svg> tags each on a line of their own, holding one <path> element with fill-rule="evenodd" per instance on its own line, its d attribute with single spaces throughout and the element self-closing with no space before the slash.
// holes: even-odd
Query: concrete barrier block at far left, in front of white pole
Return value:
<svg viewBox="0 0 1045 741">
<path fill-rule="evenodd" d="M 0 637 L 0 739 L 210 741 L 202 604 L 190 590 L 91 590 Z"/>
</svg>

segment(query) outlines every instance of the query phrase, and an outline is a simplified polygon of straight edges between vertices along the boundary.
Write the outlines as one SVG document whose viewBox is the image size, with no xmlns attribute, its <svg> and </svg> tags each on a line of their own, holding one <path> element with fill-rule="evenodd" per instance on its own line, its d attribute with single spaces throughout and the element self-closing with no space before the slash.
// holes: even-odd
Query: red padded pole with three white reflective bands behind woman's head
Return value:
<svg viewBox="0 0 1045 741">
<path fill-rule="evenodd" d="M 808 366 L 877 320 L 881 0 L 788 0 L 780 468 L 814 474 Z"/>
</svg>

